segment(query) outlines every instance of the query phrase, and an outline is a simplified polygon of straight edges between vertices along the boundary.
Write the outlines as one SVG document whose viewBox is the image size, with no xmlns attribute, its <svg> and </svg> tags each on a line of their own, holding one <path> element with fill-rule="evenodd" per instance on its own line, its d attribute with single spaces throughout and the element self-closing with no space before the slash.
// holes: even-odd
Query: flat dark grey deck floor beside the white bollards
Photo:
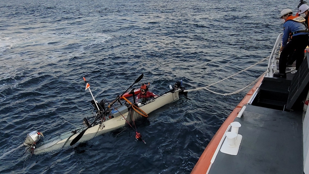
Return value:
<svg viewBox="0 0 309 174">
<path fill-rule="evenodd" d="M 302 115 L 246 105 L 237 155 L 220 150 L 210 174 L 302 174 Z"/>
</svg>

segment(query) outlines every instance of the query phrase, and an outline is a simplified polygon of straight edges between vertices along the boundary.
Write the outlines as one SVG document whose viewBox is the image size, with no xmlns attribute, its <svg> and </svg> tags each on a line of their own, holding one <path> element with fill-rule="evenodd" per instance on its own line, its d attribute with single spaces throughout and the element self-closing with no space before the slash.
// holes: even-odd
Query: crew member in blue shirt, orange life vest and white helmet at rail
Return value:
<svg viewBox="0 0 309 174">
<path fill-rule="evenodd" d="M 286 8 L 281 11 L 281 20 L 283 24 L 282 46 L 279 58 L 279 72 L 273 76 L 286 78 L 286 61 L 289 54 L 293 54 L 296 58 L 296 70 L 303 62 L 303 52 L 308 45 L 309 33 L 306 31 L 306 26 L 302 23 L 306 21 L 301 16 L 292 16 L 292 11 Z M 290 37 L 290 41 L 288 39 Z"/>
</svg>

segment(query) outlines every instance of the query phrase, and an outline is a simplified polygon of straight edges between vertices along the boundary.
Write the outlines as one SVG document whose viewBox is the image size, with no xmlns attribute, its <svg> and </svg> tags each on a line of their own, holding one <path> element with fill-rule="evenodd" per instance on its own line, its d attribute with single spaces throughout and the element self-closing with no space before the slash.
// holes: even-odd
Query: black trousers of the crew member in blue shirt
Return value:
<svg viewBox="0 0 309 174">
<path fill-rule="evenodd" d="M 309 36 L 307 34 L 302 34 L 298 36 L 293 36 L 291 41 L 286 44 L 280 54 L 279 58 L 279 72 L 286 73 L 286 61 L 289 54 L 293 54 L 296 58 L 296 70 L 300 67 L 304 60 L 304 54 L 308 45 Z M 294 52 L 294 53 L 293 53 Z"/>
</svg>

